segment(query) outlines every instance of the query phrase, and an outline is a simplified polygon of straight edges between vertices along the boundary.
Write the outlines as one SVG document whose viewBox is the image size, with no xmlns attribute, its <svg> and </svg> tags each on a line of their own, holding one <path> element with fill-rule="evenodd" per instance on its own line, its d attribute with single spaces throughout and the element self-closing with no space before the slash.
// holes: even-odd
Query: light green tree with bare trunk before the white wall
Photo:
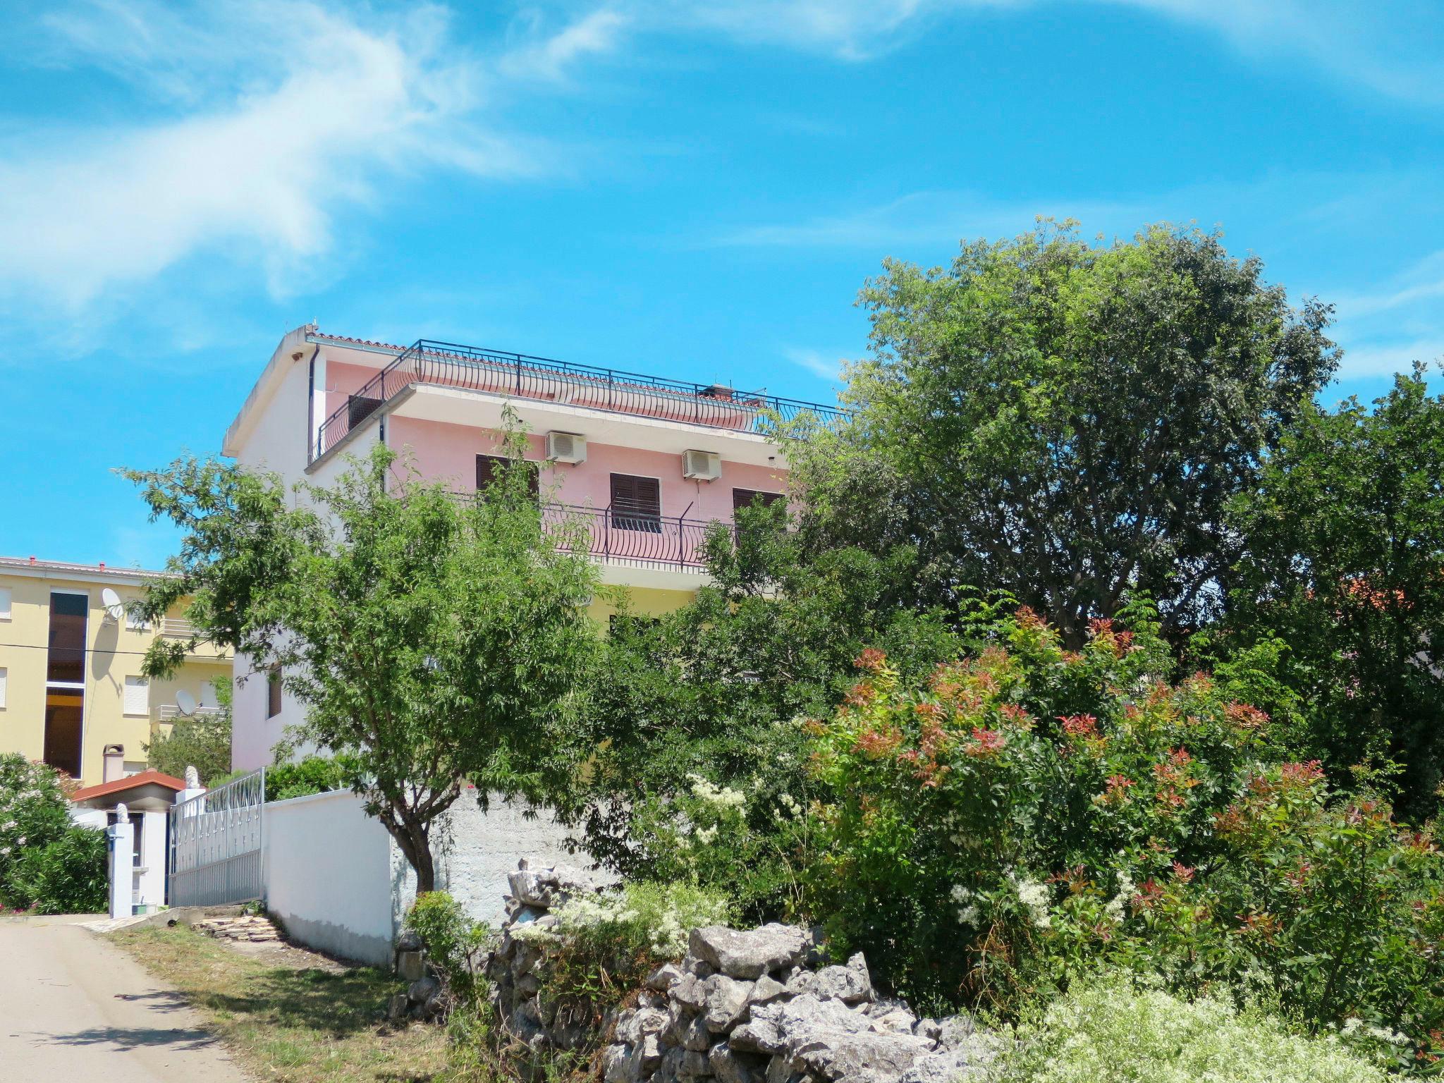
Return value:
<svg viewBox="0 0 1444 1083">
<path fill-rule="evenodd" d="M 593 648 L 595 572 L 543 529 L 524 466 L 464 500 L 386 448 L 295 501 L 277 478 L 215 461 L 130 477 L 185 533 L 146 612 L 183 605 L 196 641 L 279 667 L 305 705 L 290 736 L 338 757 L 419 891 L 436 882 L 432 825 L 466 781 L 484 801 L 544 799 L 565 774 L 550 749 Z M 196 641 L 157 641 L 147 671 Z"/>
</svg>

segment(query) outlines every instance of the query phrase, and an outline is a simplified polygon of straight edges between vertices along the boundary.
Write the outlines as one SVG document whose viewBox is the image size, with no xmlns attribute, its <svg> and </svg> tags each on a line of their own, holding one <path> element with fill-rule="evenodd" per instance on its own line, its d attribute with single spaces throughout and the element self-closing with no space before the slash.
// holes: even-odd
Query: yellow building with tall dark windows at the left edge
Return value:
<svg viewBox="0 0 1444 1083">
<path fill-rule="evenodd" d="M 176 693 L 214 710 L 212 682 L 230 680 L 231 658 L 192 656 L 170 680 L 142 676 L 157 635 L 185 637 L 186 621 L 159 628 L 120 608 L 159 575 L 104 565 L 0 557 L 0 752 L 43 760 L 85 786 L 146 768 L 152 734 L 180 713 Z M 185 706 L 186 696 L 180 696 Z"/>
</svg>

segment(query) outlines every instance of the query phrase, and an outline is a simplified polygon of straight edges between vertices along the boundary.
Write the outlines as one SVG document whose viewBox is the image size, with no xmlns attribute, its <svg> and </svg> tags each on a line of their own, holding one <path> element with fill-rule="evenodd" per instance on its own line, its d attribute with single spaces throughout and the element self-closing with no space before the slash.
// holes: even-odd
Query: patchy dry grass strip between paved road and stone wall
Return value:
<svg viewBox="0 0 1444 1083">
<path fill-rule="evenodd" d="M 257 1079 L 279 1083 L 440 1083 L 440 1027 L 391 1027 L 404 982 L 373 967 L 286 966 L 241 954 L 185 926 L 111 939 L 180 989 Z M 296 953 L 297 960 L 306 956 Z"/>
</svg>

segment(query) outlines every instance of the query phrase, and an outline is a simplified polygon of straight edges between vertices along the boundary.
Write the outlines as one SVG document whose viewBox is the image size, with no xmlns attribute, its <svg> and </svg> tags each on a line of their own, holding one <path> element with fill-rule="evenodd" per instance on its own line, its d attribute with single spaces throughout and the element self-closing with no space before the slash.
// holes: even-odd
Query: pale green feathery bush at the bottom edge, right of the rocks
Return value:
<svg viewBox="0 0 1444 1083">
<path fill-rule="evenodd" d="M 1191 1004 L 1126 982 L 1084 985 L 1021 1024 L 995 1083 L 1383 1083 L 1337 1035 L 1305 1037 L 1222 996 Z"/>
</svg>

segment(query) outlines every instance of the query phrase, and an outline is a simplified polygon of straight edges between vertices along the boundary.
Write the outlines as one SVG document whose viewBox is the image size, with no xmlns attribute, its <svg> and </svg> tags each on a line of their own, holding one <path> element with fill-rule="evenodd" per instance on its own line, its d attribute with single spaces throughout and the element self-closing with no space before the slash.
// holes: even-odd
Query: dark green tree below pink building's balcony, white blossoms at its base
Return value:
<svg viewBox="0 0 1444 1083">
<path fill-rule="evenodd" d="M 796 719 L 833 710 L 868 645 L 918 679 L 959 648 L 943 614 L 902 604 L 907 554 L 803 560 L 790 526 L 780 504 L 741 510 L 735 533 L 713 529 L 712 582 L 689 605 L 624 609 L 575 734 L 589 758 L 569 812 L 588 852 L 627 878 L 716 885 L 751 920 L 799 901 L 794 809 L 810 784 Z M 719 787 L 742 803 L 715 807 Z"/>
</svg>

